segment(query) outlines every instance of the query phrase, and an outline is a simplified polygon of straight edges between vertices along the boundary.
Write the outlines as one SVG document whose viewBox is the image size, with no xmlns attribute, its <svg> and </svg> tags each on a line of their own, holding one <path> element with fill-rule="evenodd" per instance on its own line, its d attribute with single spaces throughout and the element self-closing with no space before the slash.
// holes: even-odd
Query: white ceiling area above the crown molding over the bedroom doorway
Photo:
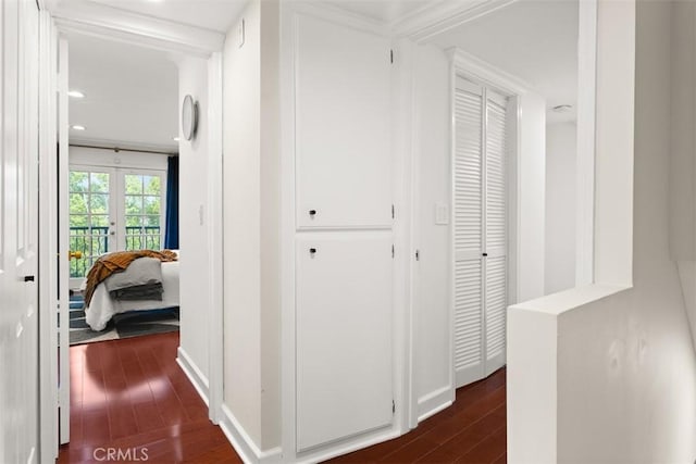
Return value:
<svg viewBox="0 0 696 464">
<path fill-rule="evenodd" d="M 148 16 L 225 34 L 247 0 L 91 0 Z"/>
</svg>

